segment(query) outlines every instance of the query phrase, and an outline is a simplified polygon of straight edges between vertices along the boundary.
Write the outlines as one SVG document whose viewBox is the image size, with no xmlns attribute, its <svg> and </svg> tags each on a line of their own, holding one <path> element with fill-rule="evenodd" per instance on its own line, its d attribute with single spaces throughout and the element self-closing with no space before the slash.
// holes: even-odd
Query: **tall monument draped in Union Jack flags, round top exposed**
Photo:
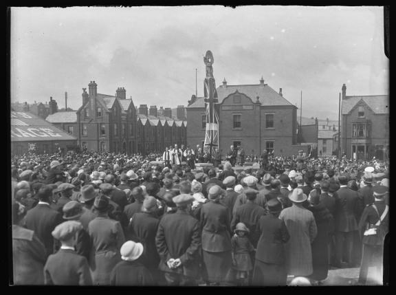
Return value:
<svg viewBox="0 0 396 295">
<path fill-rule="evenodd" d="M 203 152 L 206 153 L 208 151 L 210 155 L 214 155 L 214 149 L 219 148 L 219 100 L 217 98 L 216 82 L 213 77 L 212 64 L 214 63 L 214 58 L 210 50 L 206 52 L 203 62 L 206 65 L 206 78 L 203 83 L 206 109 L 206 131 Z"/>
</svg>

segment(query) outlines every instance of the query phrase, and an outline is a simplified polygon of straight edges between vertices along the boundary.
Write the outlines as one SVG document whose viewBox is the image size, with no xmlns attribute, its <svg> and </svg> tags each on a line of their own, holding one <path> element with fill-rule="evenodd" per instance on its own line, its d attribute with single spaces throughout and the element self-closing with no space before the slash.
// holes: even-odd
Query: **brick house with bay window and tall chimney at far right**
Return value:
<svg viewBox="0 0 396 295">
<path fill-rule="evenodd" d="M 356 160 L 388 160 L 388 95 L 347 96 L 342 85 L 341 149 Z"/>
</svg>

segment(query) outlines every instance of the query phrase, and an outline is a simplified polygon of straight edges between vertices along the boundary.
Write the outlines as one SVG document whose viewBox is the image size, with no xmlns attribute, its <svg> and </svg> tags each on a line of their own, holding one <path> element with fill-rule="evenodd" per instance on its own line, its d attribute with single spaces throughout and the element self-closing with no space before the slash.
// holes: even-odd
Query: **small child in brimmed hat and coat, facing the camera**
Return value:
<svg viewBox="0 0 396 295">
<path fill-rule="evenodd" d="M 231 238 L 232 269 L 236 271 L 238 285 L 248 285 L 249 274 L 253 269 L 251 254 L 254 247 L 248 239 L 249 229 L 244 223 L 236 224 L 234 232 Z"/>
</svg>

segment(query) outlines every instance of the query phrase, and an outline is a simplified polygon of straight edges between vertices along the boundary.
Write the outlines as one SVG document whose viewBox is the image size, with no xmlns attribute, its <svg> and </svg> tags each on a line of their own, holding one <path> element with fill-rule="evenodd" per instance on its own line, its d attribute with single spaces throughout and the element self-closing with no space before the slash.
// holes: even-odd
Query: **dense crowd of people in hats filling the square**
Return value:
<svg viewBox="0 0 396 295">
<path fill-rule="evenodd" d="M 365 284 L 369 266 L 382 272 L 388 162 L 263 153 L 201 169 L 193 153 L 12 156 L 13 283 L 320 285 L 333 266 L 360 267 Z"/>
</svg>

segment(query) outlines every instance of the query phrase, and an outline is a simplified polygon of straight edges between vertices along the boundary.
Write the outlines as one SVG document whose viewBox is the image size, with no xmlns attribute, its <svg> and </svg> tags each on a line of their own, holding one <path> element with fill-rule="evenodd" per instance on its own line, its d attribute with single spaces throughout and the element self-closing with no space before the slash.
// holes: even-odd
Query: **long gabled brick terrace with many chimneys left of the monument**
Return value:
<svg viewBox="0 0 396 295">
<path fill-rule="evenodd" d="M 78 111 L 62 111 L 47 117 L 54 126 L 74 135 L 81 149 L 120 153 L 164 151 L 165 146 L 186 143 L 186 122 L 172 118 L 172 109 L 147 105 L 137 109 L 126 90 L 119 87 L 115 96 L 98 94 L 95 81 L 83 89 L 83 104 Z M 185 118 L 184 106 L 177 115 Z M 184 114 L 184 116 L 183 116 Z"/>
</svg>

